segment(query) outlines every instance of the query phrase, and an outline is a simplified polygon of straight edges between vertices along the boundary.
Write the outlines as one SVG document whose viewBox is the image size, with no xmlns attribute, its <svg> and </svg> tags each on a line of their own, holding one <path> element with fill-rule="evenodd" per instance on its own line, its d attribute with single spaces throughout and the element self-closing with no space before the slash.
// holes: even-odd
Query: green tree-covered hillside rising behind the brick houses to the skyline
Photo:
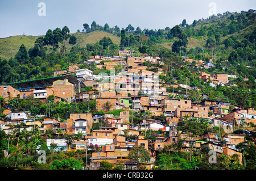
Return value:
<svg viewBox="0 0 256 181">
<path fill-rule="evenodd" d="M 48 30 L 39 37 L 19 36 L 0 39 L 1 84 L 52 77 L 54 71 L 88 60 L 96 54 L 117 56 L 119 50 L 133 49 L 136 56 L 159 56 L 164 61 L 161 81 L 185 83 L 200 88 L 189 91 L 189 99 L 198 102 L 202 94 L 208 98 L 256 108 L 255 94 L 255 11 L 225 12 L 187 24 L 184 19 L 174 27 L 148 30 L 133 27 L 100 26 L 96 22 L 82 24 L 82 31 L 70 33 L 67 26 Z M 12 40 L 12 41 L 9 41 Z M 19 47 L 15 49 L 15 47 Z M 16 50 L 14 52 L 14 49 Z M 13 54 L 9 57 L 7 54 Z M 212 60 L 214 66 L 205 73 L 237 75 L 237 87 L 211 87 L 199 78 L 195 62 L 185 58 Z M 224 61 L 228 60 L 228 61 Z M 147 64 L 148 68 L 151 67 Z M 104 71 L 88 67 L 94 73 Z M 167 87 L 172 91 L 172 87 Z M 177 91 L 177 90 L 175 90 Z"/>
</svg>

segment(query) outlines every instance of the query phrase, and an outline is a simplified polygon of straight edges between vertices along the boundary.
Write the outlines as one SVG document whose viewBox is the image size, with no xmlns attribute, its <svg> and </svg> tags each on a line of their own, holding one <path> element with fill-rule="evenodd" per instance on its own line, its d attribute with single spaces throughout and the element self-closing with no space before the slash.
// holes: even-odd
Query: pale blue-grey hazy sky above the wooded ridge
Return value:
<svg viewBox="0 0 256 181">
<path fill-rule="evenodd" d="M 44 6 L 39 6 L 43 2 Z M 45 35 L 48 29 L 67 26 L 82 31 L 82 24 L 93 20 L 104 26 L 129 24 L 158 30 L 174 27 L 183 19 L 208 18 L 212 13 L 241 12 L 256 9 L 255 0 L 0 0 L 0 37 Z M 44 11 L 45 10 L 45 11 Z M 45 12 L 45 15 L 44 15 Z"/>
</svg>

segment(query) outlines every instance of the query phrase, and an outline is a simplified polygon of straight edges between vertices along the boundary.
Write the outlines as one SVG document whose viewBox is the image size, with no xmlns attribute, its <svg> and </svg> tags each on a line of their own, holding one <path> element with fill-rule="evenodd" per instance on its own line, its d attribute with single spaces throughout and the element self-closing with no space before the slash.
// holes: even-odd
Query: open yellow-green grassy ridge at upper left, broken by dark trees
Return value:
<svg viewBox="0 0 256 181">
<path fill-rule="evenodd" d="M 72 34 L 72 33 L 71 33 Z M 112 35 L 111 33 L 104 32 L 104 31 L 93 31 L 90 33 L 75 33 L 77 37 L 77 44 L 80 47 L 86 47 L 87 43 L 96 43 L 100 41 L 104 36 L 110 37 L 110 39 L 115 44 L 120 43 L 121 37 Z M 25 47 L 28 49 L 34 47 L 35 40 L 38 39 L 39 36 L 11 36 L 0 39 L 0 57 L 9 60 L 11 57 L 14 57 L 16 52 L 18 52 L 20 45 L 24 44 Z M 67 50 L 71 49 L 71 45 L 68 44 L 66 41 L 65 43 Z"/>
</svg>

